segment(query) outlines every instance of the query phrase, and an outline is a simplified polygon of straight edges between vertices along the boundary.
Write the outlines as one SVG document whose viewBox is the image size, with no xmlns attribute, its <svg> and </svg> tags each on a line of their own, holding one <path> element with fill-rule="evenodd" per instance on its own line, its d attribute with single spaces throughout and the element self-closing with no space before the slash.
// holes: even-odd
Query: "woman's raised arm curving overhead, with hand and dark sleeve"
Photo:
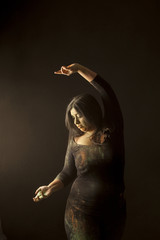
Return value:
<svg viewBox="0 0 160 240">
<path fill-rule="evenodd" d="M 117 130 L 123 131 L 123 117 L 117 97 L 110 84 L 101 78 L 96 72 L 79 63 L 62 66 L 55 74 L 70 76 L 79 73 L 99 92 L 104 107 L 104 123 L 112 123 Z"/>
</svg>

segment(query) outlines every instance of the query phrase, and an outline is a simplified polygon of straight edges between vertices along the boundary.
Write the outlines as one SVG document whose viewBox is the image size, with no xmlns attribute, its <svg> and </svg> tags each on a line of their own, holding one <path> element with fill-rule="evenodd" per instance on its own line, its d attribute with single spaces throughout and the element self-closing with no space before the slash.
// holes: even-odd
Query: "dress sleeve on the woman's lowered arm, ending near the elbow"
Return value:
<svg viewBox="0 0 160 240">
<path fill-rule="evenodd" d="M 67 186 L 69 183 L 71 183 L 77 176 L 75 160 L 71 148 L 72 144 L 71 141 L 69 141 L 63 169 L 56 177 L 56 179 L 59 179 L 64 184 L 64 186 Z"/>
</svg>

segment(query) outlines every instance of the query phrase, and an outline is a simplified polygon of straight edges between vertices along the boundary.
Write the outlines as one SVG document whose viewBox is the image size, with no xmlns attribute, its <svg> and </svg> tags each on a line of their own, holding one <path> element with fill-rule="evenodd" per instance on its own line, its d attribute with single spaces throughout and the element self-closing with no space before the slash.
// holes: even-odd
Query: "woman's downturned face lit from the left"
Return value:
<svg viewBox="0 0 160 240">
<path fill-rule="evenodd" d="M 73 118 L 74 124 L 79 128 L 82 132 L 87 132 L 93 130 L 93 127 L 88 126 L 84 120 L 84 117 L 76 111 L 75 108 L 72 108 L 71 116 Z"/>
</svg>

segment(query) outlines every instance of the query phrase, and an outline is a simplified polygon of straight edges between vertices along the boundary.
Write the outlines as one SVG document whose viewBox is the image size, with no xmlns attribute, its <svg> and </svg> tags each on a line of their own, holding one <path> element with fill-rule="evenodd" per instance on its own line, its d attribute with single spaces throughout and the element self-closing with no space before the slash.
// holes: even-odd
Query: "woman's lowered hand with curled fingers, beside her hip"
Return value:
<svg viewBox="0 0 160 240">
<path fill-rule="evenodd" d="M 34 202 L 39 202 L 52 194 L 52 188 L 48 186 L 41 186 L 35 191 Z"/>
</svg>

